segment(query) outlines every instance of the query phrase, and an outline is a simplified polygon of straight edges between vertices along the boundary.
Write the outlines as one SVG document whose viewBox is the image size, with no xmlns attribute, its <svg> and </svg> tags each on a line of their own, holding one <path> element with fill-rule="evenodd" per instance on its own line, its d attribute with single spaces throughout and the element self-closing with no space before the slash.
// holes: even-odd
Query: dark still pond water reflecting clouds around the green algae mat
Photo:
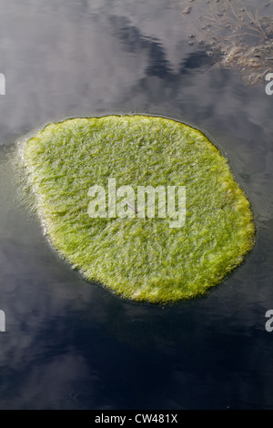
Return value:
<svg viewBox="0 0 273 428">
<path fill-rule="evenodd" d="M 273 97 L 263 82 L 215 67 L 172 0 L 0 5 L 0 408 L 272 409 Z M 86 282 L 20 200 L 18 141 L 52 121 L 113 113 L 197 127 L 251 201 L 257 243 L 204 298 L 135 304 Z"/>
</svg>

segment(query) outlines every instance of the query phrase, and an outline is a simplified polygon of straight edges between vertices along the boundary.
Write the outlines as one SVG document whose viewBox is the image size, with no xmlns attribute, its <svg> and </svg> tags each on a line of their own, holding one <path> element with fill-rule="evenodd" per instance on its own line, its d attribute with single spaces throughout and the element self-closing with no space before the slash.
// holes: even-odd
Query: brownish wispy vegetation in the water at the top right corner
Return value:
<svg viewBox="0 0 273 428">
<path fill-rule="evenodd" d="M 187 4 L 191 6 L 185 14 Z M 191 0 L 179 4 L 190 43 L 205 45 L 207 55 L 216 56 L 216 66 L 238 70 L 249 86 L 261 84 L 272 71 L 273 16 L 265 15 L 267 6 L 260 5 L 258 9 L 242 0 Z"/>
</svg>

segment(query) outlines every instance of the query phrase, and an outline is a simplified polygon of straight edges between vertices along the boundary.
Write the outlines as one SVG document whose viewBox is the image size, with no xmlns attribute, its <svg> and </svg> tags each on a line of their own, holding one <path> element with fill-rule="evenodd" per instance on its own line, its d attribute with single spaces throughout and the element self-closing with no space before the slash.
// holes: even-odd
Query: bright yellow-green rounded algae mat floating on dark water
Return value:
<svg viewBox="0 0 273 428">
<path fill-rule="evenodd" d="M 204 294 L 254 245 L 248 199 L 227 160 L 197 129 L 162 117 L 67 119 L 24 144 L 35 207 L 59 254 L 87 280 L 134 301 L 166 303 Z M 96 218 L 94 185 L 185 186 L 186 223 Z M 129 209 L 129 208 L 128 208 Z"/>
</svg>

